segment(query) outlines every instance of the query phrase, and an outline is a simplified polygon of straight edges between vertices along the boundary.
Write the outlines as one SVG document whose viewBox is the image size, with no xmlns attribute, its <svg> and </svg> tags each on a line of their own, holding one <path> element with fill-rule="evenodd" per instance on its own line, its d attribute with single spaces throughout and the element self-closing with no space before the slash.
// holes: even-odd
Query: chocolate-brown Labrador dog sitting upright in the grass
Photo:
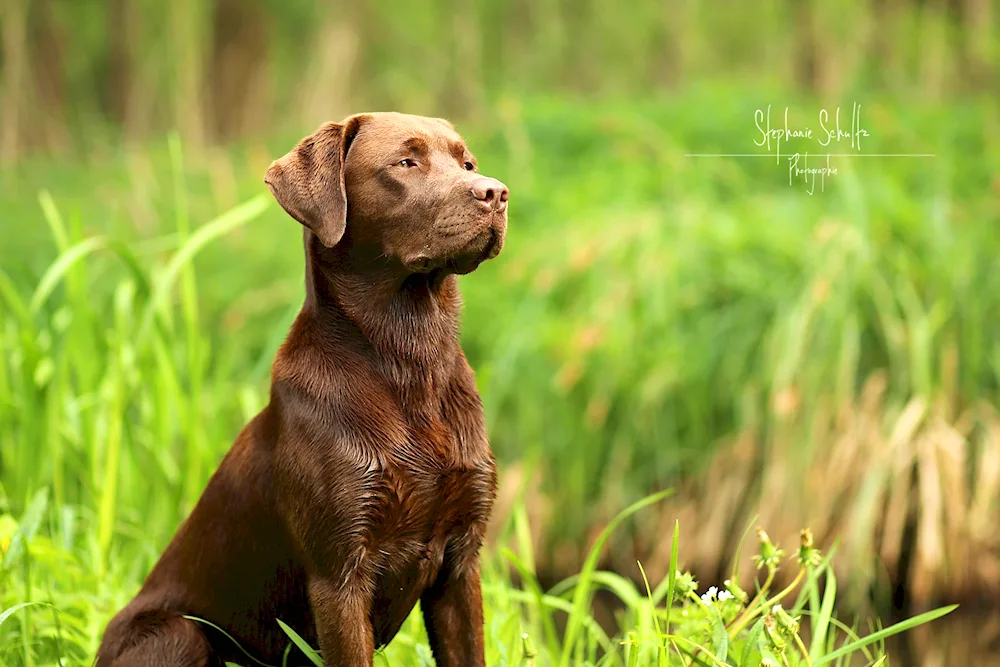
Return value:
<svg viewBox="0 0 1000 667">
<path fill-rule="evenodd" d="M 97 665 L 280 664 L 277 620 L 371 665 L 420 601 L 438 665 L 484 664 L 496 469 L 455 274 L 495 257 L 507 187 L 440 119 L 327 123 L 268 169 L 306 227 L 306 299 L 240 433 Z M 303 662 L 301 654 L 296 662 Z"/>
</svg>

